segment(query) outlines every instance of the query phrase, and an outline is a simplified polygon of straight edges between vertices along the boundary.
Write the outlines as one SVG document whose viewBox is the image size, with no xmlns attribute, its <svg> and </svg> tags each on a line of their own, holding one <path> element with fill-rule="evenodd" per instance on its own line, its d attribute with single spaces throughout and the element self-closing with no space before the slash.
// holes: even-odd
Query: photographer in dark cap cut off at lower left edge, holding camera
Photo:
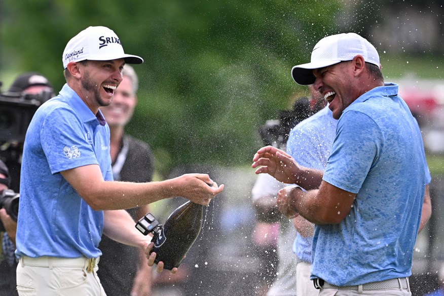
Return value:
<svg viewBox="0 0 444 296">
<path fill-rule="evenodd" d="M 0 193 L 9 189 L 11 178 L 8 167 L 0 161 Z M 17 222 L 7 213 L 6 209 L 0 209 L 0 219 L 5 228 L 1 232 L 2 262 L 0 262 L 0 295 L 18 295 L 16 289 L 17 260 L 15 251 L 15 233 Z"/>
</svg>

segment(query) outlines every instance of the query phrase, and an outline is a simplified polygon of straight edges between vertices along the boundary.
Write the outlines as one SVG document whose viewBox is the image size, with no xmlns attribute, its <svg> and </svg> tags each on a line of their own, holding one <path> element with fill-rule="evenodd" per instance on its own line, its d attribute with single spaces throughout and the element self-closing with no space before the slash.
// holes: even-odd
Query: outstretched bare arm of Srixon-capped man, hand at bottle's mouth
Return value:
<svg viewBox="0 0 444 296">
<path fill-rule="evenodd" d="M 184 174 L 165 181 L 133 183 L 104 181 L 98 165 L 60 173 L 96 211 L 128 209 L 175 196 L 208 205 L 210 199 L 224 190 L 224 185 L 218 187 L 207 174 Z"/>
</svg>

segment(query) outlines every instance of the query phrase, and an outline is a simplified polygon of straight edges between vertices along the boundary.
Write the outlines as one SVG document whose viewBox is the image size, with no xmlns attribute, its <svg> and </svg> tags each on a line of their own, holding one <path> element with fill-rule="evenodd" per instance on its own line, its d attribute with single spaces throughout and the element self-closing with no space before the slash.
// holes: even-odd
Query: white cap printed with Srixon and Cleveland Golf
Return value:
<svg viewBox="0 0 444 296">
<path fill-rule="evenodd" d="M 63 51 L 63 68 L 69 62 L 124 59 L 128 64 L 141 64 L 143 59 L 125 54 L 116 33 L 107 27 L 88 27 L 74 36 Z"/>
</svg>

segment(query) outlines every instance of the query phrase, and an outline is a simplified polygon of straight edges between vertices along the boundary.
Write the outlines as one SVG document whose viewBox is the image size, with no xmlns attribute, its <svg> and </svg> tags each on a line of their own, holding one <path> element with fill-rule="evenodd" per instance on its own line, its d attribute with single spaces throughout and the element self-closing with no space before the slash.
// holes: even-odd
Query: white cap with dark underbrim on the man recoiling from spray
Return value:
<svg viewBox="0 0 444 296">
<path fill-rule="evenodd" d="M 357 55 L 361 55 L 365 62 L 380 66 L 376 48 L 358 34 L 342 33 L 327 36 L 314 46 L 311 62 L 294 66 L 291 69 L 291 76 L 297 84 L 313 84 L 315 82 L 313 69 L 351 61 Z"/>
</svg>

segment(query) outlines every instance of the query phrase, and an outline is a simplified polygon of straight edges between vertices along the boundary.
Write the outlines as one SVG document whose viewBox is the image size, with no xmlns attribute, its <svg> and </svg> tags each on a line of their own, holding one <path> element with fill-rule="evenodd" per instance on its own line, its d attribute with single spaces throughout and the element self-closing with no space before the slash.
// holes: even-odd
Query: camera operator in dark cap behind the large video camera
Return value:
<svg viewBox="0 0 444 296">
<path fill-rule="evenodd" d="M 8 91 L 5 93 L 5 96 L 24 100 L 36 99 L 40 101 L 40 103 L 43 103 L 54 96 L 54 90 L 48 79 L 40 73 L 26 72 L 19 75 L 14 80 Z M 26 128 L 27 126 L 25 127 L 25 130 Z M 7 157 L 3 160 L 8 166 L 11 176 L 10 189 L 14 192 L 20 192 L 20 166 L 23 143 L 17 141 L 15 136 L 16 135 L 12 134 L 10 140 L 12 140 L 12 145 L 17 150 L 18 156 Z"/>
</svg>

